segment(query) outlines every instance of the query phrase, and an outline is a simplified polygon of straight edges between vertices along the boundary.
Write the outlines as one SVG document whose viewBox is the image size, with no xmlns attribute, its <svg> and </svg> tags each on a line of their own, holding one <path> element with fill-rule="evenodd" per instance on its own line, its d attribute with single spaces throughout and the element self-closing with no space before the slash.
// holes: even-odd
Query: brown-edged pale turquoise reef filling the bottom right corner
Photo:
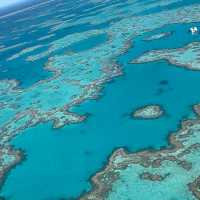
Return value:
<svg viewBox="0 0 200 200">
<path fill-rule="evenodd" d="M 182 121 L 169 147 L 113 153 L 105 169 L 92 178 L 93 190 L 81 200 L 200 199 L 200 106 L 196 119 Z M 141 192 L 145 191 L 145 192 Z"/>
</svg>

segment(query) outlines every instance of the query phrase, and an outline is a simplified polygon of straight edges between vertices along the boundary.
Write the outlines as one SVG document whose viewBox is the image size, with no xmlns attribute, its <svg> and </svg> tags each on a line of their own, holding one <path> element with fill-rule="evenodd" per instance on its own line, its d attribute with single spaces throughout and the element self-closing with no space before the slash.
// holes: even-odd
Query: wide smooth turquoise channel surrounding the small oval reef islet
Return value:
<svg viewBox="0 0 200 200">
<path fill-rule="evenodd" d="M 169 132 L 177 129 L 179 121 L 191 114 L 191 105 L 200 99 L 200 73 L 163 60 L 139 65 L 129 62 L 148 50 L 198 41 L 198 36 L 187 32 L 191 25 L 165 26 L 134 39 L 134 46 L 118 58 L 124 75 L 106 84 L 99 99 L 73 108 L 78 113 L 89 113 L 83 123 L 58 130 L 52 129 L 50 123 L 41 124 L 16 137 L 12 144 L 24 149 L 27 157 L 11 171 L 1 194 L 15 200 L 77 197 L 90 189 L 89 178 L 105 165 L 114 149 L 138 151 L 167 145 Z M 173 34 L 143 41 L 162 31 Z M 79 45 L 77 50 L 85 48 Z M 133 109 L 151 103 L 163 106 L 166 115 L 157 120 L 131 119 Z"/>
</svg>

